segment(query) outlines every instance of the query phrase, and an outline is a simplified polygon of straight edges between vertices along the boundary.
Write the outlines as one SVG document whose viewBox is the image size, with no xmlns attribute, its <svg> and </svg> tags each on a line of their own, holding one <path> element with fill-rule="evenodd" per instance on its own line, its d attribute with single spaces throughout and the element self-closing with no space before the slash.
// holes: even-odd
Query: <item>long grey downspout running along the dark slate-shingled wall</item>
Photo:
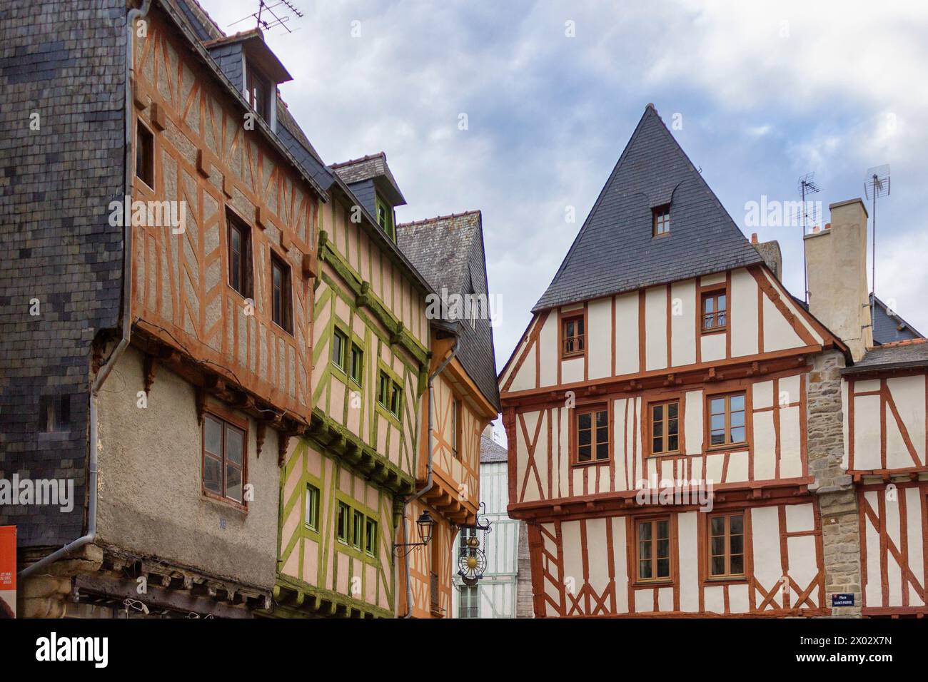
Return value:
<svg viewBox="0 0 928 682">
<path fill-rule="evenodd" d="M 135 83 L 134 46 L 135 41 L 135 21 L 148 14 L 151 6 L 151 0 L 144 0 L 140 9 L 132 8 L 125 17 L 125 87 L 124 87 L 124 113 L 125 113 L 125 160 L 123 162 L 124 176 L 124 193 L 123 201 L 129 201 L 132 197 L 132 169 L 133 169 L 133 135 L 132 135 L 132 91 Z M 132 221 L 125 219 L 128 214 L 127 207 L 122 207 L 122 338 L 110 354 L 103 367 L 97 372 L 97 379 L 94 380 L 90 389 L 90 454 L 87 461 L 87 533 L 68 543 L 58 551 L 49 554 L 44 559 L 30 564 L 19 572 L 19 578 L 27 578 L 39 569 L 51 564 L 62 557 L 65 557 L 75 549 L 80 549 L 97 539 L 97 393 L 103 386 L 103 382 L 110 376 L 112 368 L 122 356 L 126 346 L 129 345 L 129 337 L 132 333 Z"/>
</svg>

